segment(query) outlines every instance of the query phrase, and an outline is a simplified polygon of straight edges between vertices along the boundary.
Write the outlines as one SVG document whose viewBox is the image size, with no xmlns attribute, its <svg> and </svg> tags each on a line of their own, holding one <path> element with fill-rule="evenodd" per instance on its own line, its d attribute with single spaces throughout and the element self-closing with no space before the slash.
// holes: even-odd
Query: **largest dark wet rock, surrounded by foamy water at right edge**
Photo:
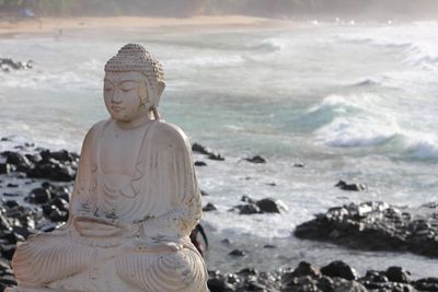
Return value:
<svg viewBox="0 0 438 292">
<path fill-rule="evenodd" d="M 300 238 L 367 250 L 410 250 L 438 257 L 438 218 L 415 218 L 384 202 L 350 203 L 316 214 L 297 226 Z"/>
</svg>

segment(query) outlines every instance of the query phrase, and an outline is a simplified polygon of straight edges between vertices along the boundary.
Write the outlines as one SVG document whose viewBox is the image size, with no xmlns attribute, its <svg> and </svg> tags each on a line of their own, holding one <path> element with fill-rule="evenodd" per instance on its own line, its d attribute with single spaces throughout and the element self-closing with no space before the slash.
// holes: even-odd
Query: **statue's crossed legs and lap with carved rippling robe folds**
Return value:
<svg viewBox="0 0 438 292">
<path fill-rule="evenodd" d="M 117 279 L 118 284 L 128 284 L 129 291 L 132 287 L 138 291 L 184 291 L 203 278 L 204 268 L 196 265 L 199 257 L 191 248 L 164 253 L 129 252 L 72 243 L 60 234 L 39 234 L 19 246 L 14 268 L 21 271 L 18 279 L 32 287 L 83 291 L 84 285 L 97 283 L 101 288 L 93 291 L 111 291 L 102 279 L 112 279 L 111 282 Z"/>
</svg>

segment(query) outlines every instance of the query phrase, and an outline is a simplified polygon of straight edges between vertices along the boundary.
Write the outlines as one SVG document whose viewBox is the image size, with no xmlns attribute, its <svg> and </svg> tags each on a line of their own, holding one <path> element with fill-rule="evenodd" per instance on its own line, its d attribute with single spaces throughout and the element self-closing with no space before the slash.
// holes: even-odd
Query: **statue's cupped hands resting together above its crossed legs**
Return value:
<svg viewBox="0 0 438 292">
<path fill-rule="evenodd" d="M 83 237 L 129 237 L 135 234 L 134 226 L 118 220 L 79 215 L 73 221 L 74 229 Z"/>
</svg>

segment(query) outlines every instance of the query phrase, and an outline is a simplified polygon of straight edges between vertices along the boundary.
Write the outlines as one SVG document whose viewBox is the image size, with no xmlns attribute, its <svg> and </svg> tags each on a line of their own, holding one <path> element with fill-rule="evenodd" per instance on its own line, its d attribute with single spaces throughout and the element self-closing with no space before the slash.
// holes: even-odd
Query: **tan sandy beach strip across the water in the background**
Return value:
<svg viewBox="0 0 438 292">
<path fill-rule="evenodd" d="M 51 33 L 59 30 L 77 28 L 105 28 L 105 27 L 145 27 L 145 28 L 165 28 L 180 27 L 189 28 L 223 28 L 230 26 L 239 27 L 272 27 L 283 21 L 274 21 L 262 17 L 251 17 L 241 15 L 221 16 L 194 16 L 186 19 L 176 17 L 135 17 L 135 16 L 114 16 L 114 17 L 37 17 L 32 20 L 5 21 L 0 20 L 0 35 L 20 33 Z"/>
</svg>

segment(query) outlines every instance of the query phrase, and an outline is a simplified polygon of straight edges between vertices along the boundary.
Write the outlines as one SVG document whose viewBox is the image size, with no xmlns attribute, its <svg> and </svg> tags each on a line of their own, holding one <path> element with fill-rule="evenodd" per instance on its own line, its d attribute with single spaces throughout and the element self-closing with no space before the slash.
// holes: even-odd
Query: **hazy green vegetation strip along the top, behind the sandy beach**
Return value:
<svg viewBox="0 0 438 292">
<path fill-rule="evenodd" d="M 437 13 L 437 0 L 0 0 L 0 13 L 30 8 L 37 15 L 164 15 Z"/>
</svg>

